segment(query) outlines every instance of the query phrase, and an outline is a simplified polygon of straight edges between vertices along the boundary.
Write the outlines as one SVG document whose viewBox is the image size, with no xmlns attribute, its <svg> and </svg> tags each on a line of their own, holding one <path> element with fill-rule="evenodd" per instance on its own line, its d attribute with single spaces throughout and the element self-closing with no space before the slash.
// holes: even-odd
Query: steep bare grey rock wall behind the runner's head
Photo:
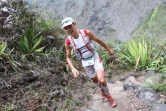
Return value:
<svg viewBox="0 0 166 111">
<path fill-rule="evenodd" d="M 73 17 L 103 40 L 129 40 L 139 23 L 166 0 L 26 0 L 54 18 Z M 55 14 L 56 13 L 56 14 Z"/>
</svg>

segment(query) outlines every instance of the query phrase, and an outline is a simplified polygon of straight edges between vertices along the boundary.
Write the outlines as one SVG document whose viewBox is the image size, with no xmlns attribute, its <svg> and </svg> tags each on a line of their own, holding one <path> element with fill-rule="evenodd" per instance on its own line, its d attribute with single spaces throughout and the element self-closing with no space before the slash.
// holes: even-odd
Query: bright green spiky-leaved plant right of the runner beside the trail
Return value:
<svg viewBox="0 0 166 111">
<path fill-rule="evenodd" d="M 151 42 L 145 40 L 128 42 L 124 50 L 119 53 L 118 61 L 127 65 L 128 68 L 146 69 L 152 60 Z"/>
</svg>

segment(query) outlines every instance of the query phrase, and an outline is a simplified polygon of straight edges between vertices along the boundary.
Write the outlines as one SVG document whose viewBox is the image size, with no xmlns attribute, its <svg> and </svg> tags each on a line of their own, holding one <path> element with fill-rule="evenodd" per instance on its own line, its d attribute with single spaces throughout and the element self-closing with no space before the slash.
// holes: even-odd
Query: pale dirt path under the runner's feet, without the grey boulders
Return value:
<svg viewBox="0 0 166 111">
<path fill-rule="evenodd" d="M 124 91 L 122 82 L 108 83 L 108 86 L 112 97 L 118 103 L 117 107 L 112 108 L 109 102 L 106 99 L 103 100 L 100 93 L 98 93 L 93 94 L 92 99 L 81 107 L 79 111 L 150 111 L 146 107 L 136 105 L 138 98 L 135 98 L 136 101 L 131 101 L 130 94 Z M 131 94 L 131 96 L 133 95 Z"/>
</svg>

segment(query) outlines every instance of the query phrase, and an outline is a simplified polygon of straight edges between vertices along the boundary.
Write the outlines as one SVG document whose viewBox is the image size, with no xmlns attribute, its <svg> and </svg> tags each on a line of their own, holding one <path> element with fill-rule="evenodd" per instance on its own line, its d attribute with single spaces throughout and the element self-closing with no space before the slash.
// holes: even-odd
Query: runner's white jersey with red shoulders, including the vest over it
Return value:
<svg viewBox="0 0 166 111">
<path fill-rule="evenodd" d="M 65 43 L 71 46 L 79 59 L 92 57 L 95 52 L 95 47 L 88 37 L 87 30 L 79 30 L 78 33 L 79 37 L 77 39 L 69 36 L 66 38 Z"/>
</svg>

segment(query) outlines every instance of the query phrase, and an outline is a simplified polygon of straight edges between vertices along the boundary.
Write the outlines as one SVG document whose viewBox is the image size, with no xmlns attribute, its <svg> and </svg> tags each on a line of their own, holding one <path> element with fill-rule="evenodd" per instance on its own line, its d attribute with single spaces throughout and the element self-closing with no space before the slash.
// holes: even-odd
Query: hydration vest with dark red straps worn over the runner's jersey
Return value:
<svg viewBox="0 0 166 111">
<path fill-rule="evenodd" d="M 94 47 L 92 41 L 85 34 L 85 30 L 79 30 L 78 33 L 79 33 L 79 37 L 81 37 L 83 40 L 82 45 L 76 46 L 74 39 L 71 36 L 69 36 L 68 39 L 70 41 L 70 47 L 75 51 L 78 59 L 87 59 L 87 58 L 92 57 L 95 52 L 95 47 Z M 88 54 L 88 57 L 85 58 L 85 57 L 83 57 L 83 53 L 86 53 L 87 51 L 89 51 L 90 54 Z"/>
</svg>

